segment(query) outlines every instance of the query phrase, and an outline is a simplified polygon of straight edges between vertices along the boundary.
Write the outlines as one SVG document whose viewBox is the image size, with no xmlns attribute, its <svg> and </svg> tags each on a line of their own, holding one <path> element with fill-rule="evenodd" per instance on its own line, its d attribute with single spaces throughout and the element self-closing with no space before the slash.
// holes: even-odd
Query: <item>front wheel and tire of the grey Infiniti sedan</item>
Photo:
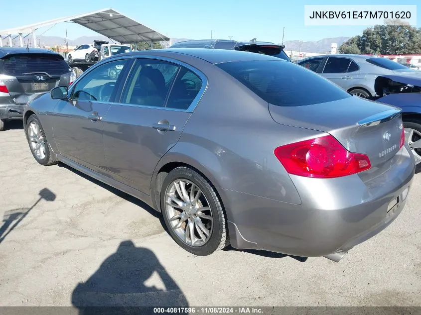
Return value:
<svg viewBox="0 0 421 315">
<path fill-rule="evenodd" d="M 44 129 L 35 114 L 29 116 L 25 125 L 26 139 L 35 160 L 41 165 L 53 165 L 58 162 L 48 146 Z"/>
</svg>

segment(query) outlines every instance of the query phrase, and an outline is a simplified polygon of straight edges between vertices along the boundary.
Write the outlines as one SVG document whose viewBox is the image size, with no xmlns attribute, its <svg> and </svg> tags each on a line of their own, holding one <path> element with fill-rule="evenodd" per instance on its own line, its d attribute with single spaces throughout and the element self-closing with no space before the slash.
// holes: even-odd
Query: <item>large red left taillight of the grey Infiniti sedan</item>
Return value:
<svg viewBox="0 0 421 315">
<path fill-rule="evenodd" d="M 304 177 L 341 177 L 371 167 L 367 155 L 346 150 L 331 135 L 283 145 L 274 153 L 289 174 Z"/>
</svg>

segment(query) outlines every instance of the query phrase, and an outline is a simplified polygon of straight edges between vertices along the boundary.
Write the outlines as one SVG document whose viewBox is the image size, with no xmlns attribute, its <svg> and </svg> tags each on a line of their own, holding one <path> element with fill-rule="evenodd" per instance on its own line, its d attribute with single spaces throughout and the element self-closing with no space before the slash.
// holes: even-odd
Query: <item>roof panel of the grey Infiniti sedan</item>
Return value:
<svg viewBox="0 0 421 315">
<path fill-rule="evenodd" d="M 230 61 L 252 61 L 252 60 L 282 60 L 277 57 L 257 54 L 253 52 L 245 52 L 238 50 L 226 50 L 226 49 L 207 49 L 207 48 L 165 48 L 165 49 L 153 49 L 153 50 L 141 50 L 134 51 L 125 54 L 119 54 L 116 56 L 123 55 L 153 55 L 154 52 L 158 52 L 159 56 L 165 56 L 168 58 L 177 59 L 178 54 L 188 55 L 194 58 L 199 58 L 210 62 L 212 64 L 230 62 Z"/>
</svg>

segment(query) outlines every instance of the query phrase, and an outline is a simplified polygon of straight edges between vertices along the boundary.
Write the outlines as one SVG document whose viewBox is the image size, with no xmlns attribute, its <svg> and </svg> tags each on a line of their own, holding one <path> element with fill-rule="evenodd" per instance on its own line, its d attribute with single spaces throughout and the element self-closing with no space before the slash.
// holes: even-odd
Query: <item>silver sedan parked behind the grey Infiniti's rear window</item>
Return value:
<svg viewBox="0 0 421 315">
<path fill-rule="evenodd" d="M 297 64 L 362 98 L 375 95 L 374 80 L 377 76 L 416 72 L 387 58 L 367 55 L 315 56 L 300 60 Z"/>
</svg>

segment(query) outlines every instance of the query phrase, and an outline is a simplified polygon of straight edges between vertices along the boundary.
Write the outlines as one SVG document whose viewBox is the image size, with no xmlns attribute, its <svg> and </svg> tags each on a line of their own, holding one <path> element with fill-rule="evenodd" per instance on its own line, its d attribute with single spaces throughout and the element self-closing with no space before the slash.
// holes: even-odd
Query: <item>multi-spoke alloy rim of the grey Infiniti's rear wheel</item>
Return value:
<svg viewBox="0 0 421 315">
<path fill-rule="evenodd" d="M 204 245 L 211 237 L 213 218 L 209 203 L 199 187 L 186 179 L 176 179 L 165 192 L 169 225 L 187 245 Z"/>
</svg>

